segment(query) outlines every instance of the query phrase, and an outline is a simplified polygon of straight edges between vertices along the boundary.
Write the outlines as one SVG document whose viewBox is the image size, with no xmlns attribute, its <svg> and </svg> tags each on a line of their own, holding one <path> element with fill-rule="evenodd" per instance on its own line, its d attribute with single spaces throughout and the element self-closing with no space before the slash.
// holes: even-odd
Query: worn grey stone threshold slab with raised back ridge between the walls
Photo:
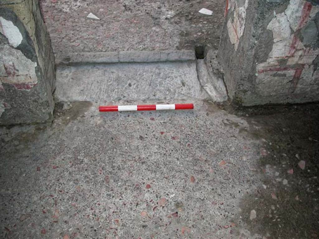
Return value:
<svg viewBox="0 0 319 239">
<path fill-rule="evenodd" d="M 84 55 L 89 57 L 83 58 Z M 119 54 L 120 62 L 107 55 L 112 54 L 73 55 L 67 62 L 59 61 L 56 101 L 208 98 L 198 81 L 192 51 L 127 52 Z"/>
</svg>

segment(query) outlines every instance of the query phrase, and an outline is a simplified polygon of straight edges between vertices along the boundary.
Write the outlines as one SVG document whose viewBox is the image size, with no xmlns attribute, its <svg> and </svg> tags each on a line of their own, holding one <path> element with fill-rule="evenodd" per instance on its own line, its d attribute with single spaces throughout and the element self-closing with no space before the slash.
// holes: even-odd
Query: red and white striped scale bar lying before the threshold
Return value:
<svg viewBox="0 0 319 239">
<path fill-rule="evenodd" d="M 194 104 L 173 105 L 107 105 L 100 106 L 100 112 L 107 111 L 142 111 L 142 110 L 192 110 Z"/>
</svg>

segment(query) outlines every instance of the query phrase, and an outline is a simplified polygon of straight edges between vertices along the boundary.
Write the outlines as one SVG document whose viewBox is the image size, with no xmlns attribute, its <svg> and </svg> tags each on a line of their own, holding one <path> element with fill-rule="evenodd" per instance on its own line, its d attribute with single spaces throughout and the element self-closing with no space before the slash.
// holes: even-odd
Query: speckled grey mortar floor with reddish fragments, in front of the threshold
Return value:
<svg viewBox="0 0 319 239">
<path fill-rule="evenodd" d="M 319 105 L 194 103 L 1 128 L 0 237 L 317 238 Z"/>
</svg>

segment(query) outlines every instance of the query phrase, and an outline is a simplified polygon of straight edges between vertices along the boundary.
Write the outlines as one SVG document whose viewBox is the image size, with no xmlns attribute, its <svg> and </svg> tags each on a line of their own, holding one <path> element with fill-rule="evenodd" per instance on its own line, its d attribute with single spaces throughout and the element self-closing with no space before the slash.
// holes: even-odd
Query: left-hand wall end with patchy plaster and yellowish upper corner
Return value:
<svg viewBox="0 0 319 239">
<path fill-rule="evenodd" d="M 52 120 L 54 55 L 39 1 L 0 3 L 0 125 Z"/>
</svg>

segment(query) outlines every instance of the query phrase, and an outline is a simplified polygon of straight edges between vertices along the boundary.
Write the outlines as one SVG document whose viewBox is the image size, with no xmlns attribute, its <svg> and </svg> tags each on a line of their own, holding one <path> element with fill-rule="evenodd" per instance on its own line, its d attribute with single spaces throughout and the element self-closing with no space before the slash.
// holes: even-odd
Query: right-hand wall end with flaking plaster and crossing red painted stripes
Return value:
<svg viewBox="0 0 319 239">
<path fill-rule="evenodd" d="M 225 11 L 219 58 L 230 97 L 242 105 L 319 100 L 319 5 L 247 2 L 229 0 Z"/>
</svg>

